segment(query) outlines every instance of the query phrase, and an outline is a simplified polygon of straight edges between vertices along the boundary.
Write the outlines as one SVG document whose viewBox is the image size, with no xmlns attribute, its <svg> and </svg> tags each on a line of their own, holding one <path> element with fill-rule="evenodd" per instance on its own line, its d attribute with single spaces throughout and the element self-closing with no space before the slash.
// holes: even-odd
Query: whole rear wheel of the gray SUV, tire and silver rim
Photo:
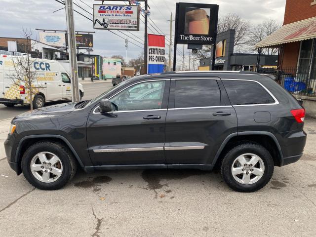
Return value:
<svg viewBox="0 0 316 237">
<path fill-rule="evenodd" d="M 254 192 L 271 179 L 274 162 L 266 148 L 255 143 L 233 147 L 224 157 L 222 176 L 229 187 L 238 192 Z"/>
</svg>

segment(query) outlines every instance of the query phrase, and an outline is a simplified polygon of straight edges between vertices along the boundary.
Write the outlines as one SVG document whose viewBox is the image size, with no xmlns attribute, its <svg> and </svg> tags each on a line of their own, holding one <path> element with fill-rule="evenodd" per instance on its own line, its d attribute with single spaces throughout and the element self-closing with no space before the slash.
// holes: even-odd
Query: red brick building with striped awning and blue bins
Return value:
<svg viewBox="0 0 316 237">
<path fill-rule="evenodd" d="M 256 47 L 278 49 L 278 82 L 316 116 L 316 0 L 286 0 L 283 26 Z"/>
</svg>

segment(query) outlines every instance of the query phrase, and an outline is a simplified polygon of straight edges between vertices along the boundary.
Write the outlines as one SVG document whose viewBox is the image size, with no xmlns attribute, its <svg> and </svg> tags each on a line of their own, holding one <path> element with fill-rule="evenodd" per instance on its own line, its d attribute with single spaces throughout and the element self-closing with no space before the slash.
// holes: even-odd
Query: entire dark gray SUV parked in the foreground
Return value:
<svg viewBox="0 0 316 237">
<path fill-rule="evenodd" d="M 301 158 L 305 110 L 267 75 L 181 72 L 125 80 L 90 101 L 13 118 L 5 152 L 35 187 L 63 187 L 77 167 L 220 167 L 226 183 L 253 192 L 274 166 Z"/>
</svg>

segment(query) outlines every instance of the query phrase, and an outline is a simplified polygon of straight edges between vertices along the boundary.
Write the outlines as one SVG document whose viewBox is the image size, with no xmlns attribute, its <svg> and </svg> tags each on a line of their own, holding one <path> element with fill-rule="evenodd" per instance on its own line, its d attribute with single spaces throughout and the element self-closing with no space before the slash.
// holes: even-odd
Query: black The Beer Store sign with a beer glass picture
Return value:
<svg viewBox="0 0 316 237">
<path fill-rule="evenodd" d="M 176 39 L 183 44 L 214 44 L 218 5 L 180 2 L 176 5 Z"/>
</svg>

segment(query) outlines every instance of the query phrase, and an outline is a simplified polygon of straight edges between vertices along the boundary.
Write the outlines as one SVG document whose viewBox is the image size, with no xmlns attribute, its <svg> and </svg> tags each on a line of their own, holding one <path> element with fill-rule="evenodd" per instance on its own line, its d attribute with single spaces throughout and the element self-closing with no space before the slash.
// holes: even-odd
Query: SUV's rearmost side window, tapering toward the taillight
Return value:
<svg viewBox="0 0 316 237">
<path fill-rule="evenodd" d="M 223 79 L 232 105 L 273 104 L 276 101 L 259 83 L 249 80 Z"/>
</svg>

